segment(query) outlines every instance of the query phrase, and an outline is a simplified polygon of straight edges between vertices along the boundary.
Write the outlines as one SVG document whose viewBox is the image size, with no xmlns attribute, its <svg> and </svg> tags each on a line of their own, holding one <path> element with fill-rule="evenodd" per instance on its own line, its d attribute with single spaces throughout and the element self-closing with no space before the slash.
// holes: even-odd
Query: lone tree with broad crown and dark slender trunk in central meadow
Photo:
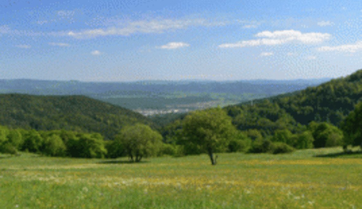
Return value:
<svg viewBox="0 0 362 209">
<path fill-rule="evenodd" d="M 236 128 L 231 118 L 220 107 L 191 112 L 182 121 L 184 143 L 199 146 L 216 165 L 215 152 L 225 152 Z"/>
</svg>

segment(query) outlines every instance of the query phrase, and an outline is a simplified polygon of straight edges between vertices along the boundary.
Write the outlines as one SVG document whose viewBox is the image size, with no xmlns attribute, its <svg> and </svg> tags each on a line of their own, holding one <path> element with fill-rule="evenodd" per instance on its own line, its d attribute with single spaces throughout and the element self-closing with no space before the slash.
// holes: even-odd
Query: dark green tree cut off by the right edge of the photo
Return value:
<svg viewBox="0 0 362 209">
<path fill-rule="evenodd" d="M 362 149 L 362 102 L 355 105 L 354 110 L 341 121 L 340 127 L 344 136 L 344 149 L 347 145 L 359 145 Z"/>
</svg>

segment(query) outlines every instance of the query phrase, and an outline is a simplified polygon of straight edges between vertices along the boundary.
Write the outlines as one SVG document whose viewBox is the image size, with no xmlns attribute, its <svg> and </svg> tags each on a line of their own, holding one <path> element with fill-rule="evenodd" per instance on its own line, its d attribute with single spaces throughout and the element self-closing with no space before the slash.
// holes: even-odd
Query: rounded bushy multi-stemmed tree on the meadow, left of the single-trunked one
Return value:
<svg viewBox="0 0 362 209">
<path fill-rule="evenodd" d="M 162 135 L 159 132 L 140 123 L 123 127 L 114 138 L 114 146 L 126 150 L 132 162 L 140 162 L 143 157 L 156 155 L 161 143 Z"/>
</svg>

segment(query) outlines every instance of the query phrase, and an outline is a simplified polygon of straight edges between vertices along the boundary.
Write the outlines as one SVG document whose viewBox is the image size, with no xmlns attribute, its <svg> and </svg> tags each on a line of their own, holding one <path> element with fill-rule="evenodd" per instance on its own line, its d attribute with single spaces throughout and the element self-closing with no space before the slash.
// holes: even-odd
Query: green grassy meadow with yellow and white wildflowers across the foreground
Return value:
<svg viewBox="0 0 362 209">
<path fill-rule="evenodd" d="M 0 208 L 362 208 L 356 149 L 220 153 L 216 166 L 207 155 L 141 163 L 0 155 Z"/>
</svg>

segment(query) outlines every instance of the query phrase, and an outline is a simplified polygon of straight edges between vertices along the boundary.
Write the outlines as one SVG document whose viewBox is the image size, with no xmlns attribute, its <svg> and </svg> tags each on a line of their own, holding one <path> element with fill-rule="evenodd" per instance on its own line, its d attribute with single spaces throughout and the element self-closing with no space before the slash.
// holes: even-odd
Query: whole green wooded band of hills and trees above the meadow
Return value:
<svg viewBox="0 0 362 209">
<path fill-rule="evenodd" d="M 296 149 L 362 146 L 361 78 L 362 70 L 358 70 L 292 93 L 223 108 L 147 117 L 84 95 L 0 94 L 0 152 L 15 154 L 19 150 L 88 158 L 128 154 L 133 159 L 130 149 L 135 144 L 125 144 L 133 140 L 136 144 L 155 144 L 149 146 L 152 152 L 140 146 L 145 154 L 140 158 L 137 155 L 136 161 L 148 155 L 177 157 L 209 152 L 214 165 L 214 152 L 277 154 Z M 207 115 L 216 113 L 216 118 L 207 119 Z M 215 122 L 220 118 L 222 123 Z M 226 125 L 229 122 L 230 127 Z M 225 126 L 228 128 L 219 128 Z M 144 132 L 130 134 L 134 133 L 132 127 L 142 127 Z M 195 128 L 193 132 L 190 127 Z M 152 142 L 144 136 L 151 137 Z M 221 139 L 224 143 L 216 146 L 214 142 Z M 206 146 L 206 142 L 210 145 Z"/>
</svg>

